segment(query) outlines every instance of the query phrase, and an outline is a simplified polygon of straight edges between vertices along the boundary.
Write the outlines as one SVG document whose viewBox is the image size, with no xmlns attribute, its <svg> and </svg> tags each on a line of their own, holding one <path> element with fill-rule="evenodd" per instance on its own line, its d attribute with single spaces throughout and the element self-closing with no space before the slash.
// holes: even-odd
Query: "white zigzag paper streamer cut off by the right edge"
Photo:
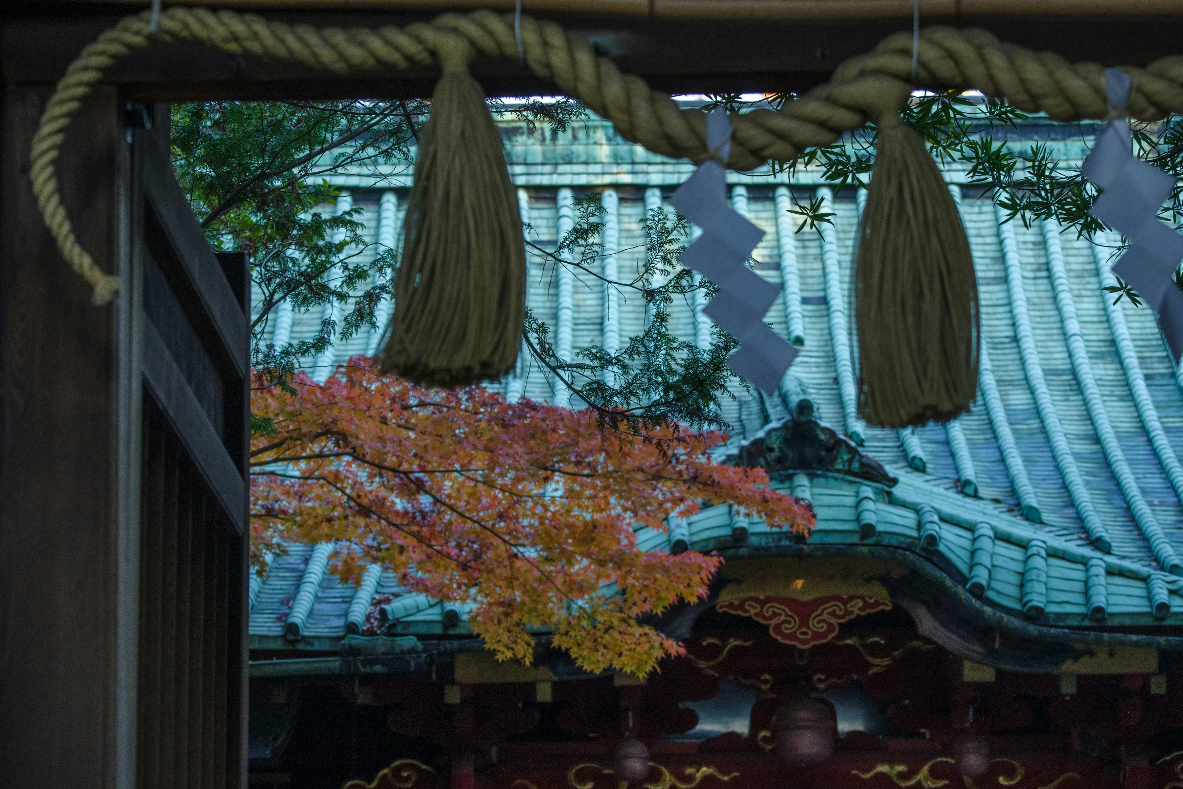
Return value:
<svg viewBox="0 0 1183 789">
<path fill-rule="evenodd" d="M 1106 69 L 1105 78 L 1110 106 L 1125 109 L 1129 75 Z M 1176 287 L 1174 274 L 1183 260 L 1183 235 L 1158 218 L 1175 179 L 1134 156 L 1130 140 L 1126 118 L 1110 121 L 1080 174 L 1104 189 L 1090 213 L 1130 241 L 1113 273 L 1158 313 L 1158 326 L 1177 364 L 1183 354 L 1183 291 Z"/>
</svg>

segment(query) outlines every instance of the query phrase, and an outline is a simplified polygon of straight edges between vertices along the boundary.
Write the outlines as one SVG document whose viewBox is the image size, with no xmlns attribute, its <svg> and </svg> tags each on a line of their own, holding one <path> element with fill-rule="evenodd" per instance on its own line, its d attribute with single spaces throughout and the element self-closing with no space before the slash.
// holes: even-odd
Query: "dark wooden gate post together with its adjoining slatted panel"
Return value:
<svg viewBox="0 0 1183 789">
<path fill-rule="evenodd" d="M 51 85 L 0 90 L 0 783 L 235 789 L 246 781 L 245 260 L 219 265 L 180 193 L 167 105 L 151 131 L 125 128 L 146 114 L 98 86 L 57 160 L 78 242 L 121 277 L 115 302 L 95 306 L 28 180 Z M 209 348 L 224 351 L 220 367 L 186 377 L 180 364 Z M 194 394 L 212 375 L 225 393 L 213 422 Z"/>
</svg>

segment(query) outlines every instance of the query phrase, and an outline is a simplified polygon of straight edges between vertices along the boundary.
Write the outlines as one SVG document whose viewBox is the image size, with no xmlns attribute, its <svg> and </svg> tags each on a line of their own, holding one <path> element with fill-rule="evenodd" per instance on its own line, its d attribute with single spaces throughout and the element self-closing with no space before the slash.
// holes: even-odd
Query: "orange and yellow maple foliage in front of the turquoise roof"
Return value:
<svg viewBox="0 0 1183 789">
<path fill-rule="evenodd" d="M 641 551 L 634 530 L 723 503 L 799 533 L 814 523 L 763 470 L 712 460 L 719 433 L 642 440 L 586 410 L 416 387 L 363 357 L 324 383 L 261 388 L 252 409 L 270 425 L 253 438 L 252 549 L 334 541 L 342 577 L 380 562 L 468 606 L 502 659 L 529 661 L 528 628 L 550 628 L 584 668 L 647 673 L 680 647 L 645 617 L 702 597 L 722 560 Z"/>
</svg>

